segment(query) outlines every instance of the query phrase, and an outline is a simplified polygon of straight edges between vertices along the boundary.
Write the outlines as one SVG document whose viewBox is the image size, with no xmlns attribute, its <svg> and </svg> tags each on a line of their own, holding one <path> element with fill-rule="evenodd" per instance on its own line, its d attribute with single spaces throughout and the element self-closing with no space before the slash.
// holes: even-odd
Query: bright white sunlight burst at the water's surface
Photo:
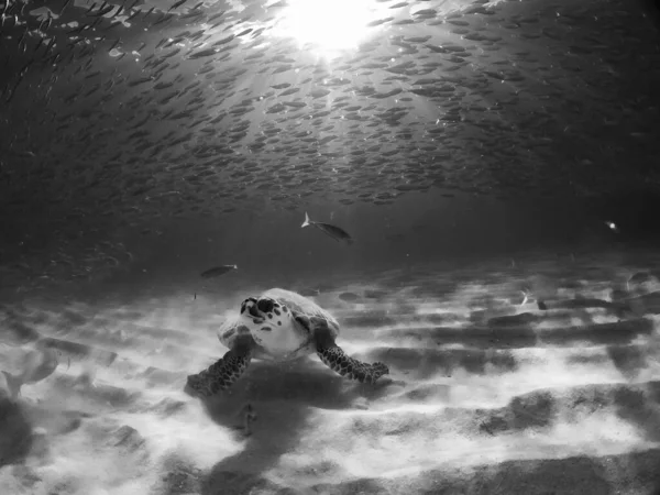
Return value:
<svg viewBox="0 0 660 495">
<path fill-rule="evenodd" d="M 311 44 L 323 55 L 351 50 L 367 34 L 375 19 L 371 0 L 290 0 L 279 25 L 280 34 L 301 46 Z"/>
</svg>

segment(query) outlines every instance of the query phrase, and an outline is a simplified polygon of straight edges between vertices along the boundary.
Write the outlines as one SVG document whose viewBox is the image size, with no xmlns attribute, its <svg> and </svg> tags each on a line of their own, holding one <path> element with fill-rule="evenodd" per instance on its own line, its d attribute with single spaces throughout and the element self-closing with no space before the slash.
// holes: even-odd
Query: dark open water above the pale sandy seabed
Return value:
<svg viewBox="0 0 660 495">
<path fill-rule="evenodd" d="M 6 2 L 2 288 L 660 231 L 652 2 L 319 3 L 300 25 L 346 11 L 316 42 L 296 6 Z"/>
</svg>

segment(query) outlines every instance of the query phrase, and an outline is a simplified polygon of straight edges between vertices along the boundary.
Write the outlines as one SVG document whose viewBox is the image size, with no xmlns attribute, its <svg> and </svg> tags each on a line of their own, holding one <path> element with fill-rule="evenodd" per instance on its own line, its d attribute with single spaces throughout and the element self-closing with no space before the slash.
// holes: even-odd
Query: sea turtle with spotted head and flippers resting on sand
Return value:
<svg viewBox="0 0 660 495">
<path fill-rule="evenodd" d="M 334 343 L 339 323 L 328 311 L 299 294 L 273 288 L 241 304 L 240 314 L 218 329 L 218 339 L 229 348 L 207 370 L 188 376 L 188 386 L 209 397 L 228 389 L 245 371 L 252 358 L 295 360 L 316 352 L 342 376 L 374 383 L 389 373 L 383 363 L 363 363 Z"/>
</svg>

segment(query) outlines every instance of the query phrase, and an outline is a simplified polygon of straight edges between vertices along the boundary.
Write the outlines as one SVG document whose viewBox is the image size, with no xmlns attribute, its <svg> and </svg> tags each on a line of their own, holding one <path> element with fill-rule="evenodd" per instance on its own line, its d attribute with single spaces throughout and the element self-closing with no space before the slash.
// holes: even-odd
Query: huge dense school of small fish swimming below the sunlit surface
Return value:
<svg viewBox="0 0 660 495">
<path fill-rule="evenodd" d="M 323 56 L 278 31 L 287 0 L 2 0 L 3 218 L 70 240 L 74 223 L 302 212 L 310 197 L 660 183 L 660 51 L 640 3 L 367 3 L 358 46 Z M 101 266 L 130 256 L 106 248 Z"/>
</svg>

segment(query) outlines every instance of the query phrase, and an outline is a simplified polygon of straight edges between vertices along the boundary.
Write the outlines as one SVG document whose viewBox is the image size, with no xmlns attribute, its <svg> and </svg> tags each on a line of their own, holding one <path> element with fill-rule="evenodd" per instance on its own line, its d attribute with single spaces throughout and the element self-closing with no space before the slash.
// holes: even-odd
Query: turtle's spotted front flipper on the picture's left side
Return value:
<svg viewBox="0 0 660 495">
<path fill-rule="evenodd" d="M 249 349 L 232 349 L 208 369 L 188 375 L 188 386 L 202 397 L 211 397 L 231 387 L 245 372 L 251 360 Z"/>
</svg>

